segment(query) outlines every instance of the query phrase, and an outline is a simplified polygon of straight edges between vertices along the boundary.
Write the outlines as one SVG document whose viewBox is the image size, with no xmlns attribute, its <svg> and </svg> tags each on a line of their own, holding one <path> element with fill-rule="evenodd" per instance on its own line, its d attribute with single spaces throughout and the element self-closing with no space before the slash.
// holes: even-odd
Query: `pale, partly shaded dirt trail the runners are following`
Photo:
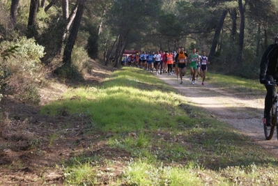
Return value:
<svg viewBox="0 0 278 186">
<path fill-rule="evenodd" d="M 192 85 L 187 76 L 185 75 L 183 84 L 180 84 L 176 75 L 157 75 L 158 78 L 180 91 L 188 102 L 208 110 L 219 121 L 229 123 L 242 134 L 249 136 L 252 141 L 271 149 L 273 155 L 278 157 L 276 131 L 270 141 L 265 140 L 263 133 L 264 95 L 259 99 L 250 98 L 249 93 L 242 97 L 235 97 L 232 93 L 214 88 L 207 82 L 205 86 L 201 85 L 201 81 L 196 81 L 195 85 Z"/>
</svg>

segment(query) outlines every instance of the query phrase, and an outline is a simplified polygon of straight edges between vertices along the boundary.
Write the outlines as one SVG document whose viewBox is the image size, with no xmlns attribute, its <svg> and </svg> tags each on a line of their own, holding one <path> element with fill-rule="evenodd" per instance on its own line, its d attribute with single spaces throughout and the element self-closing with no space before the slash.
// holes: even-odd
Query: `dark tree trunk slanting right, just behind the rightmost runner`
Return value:
<svg viewBox="0 0 278 186">
<path fill-rule="evenodd" d="M 224 24 L 224 20 L 225 20 L 225 17 L 227 15 L 227 13 L 228 13 L 228 10 L 223 10 L 222 11 L 222 15 L 221 15 L 220 20 L 217 24 L 217 28 L 215 30 L 215 36 L 213 38 L 213 44 L 210 47 L 210 54 L 208 55 L 208 61 L 210 61 L 210 63 L 213 63 L 213 58 L 214 58 L 214 55 L 215 55 L 215 49 L 217 47 L 217 42 L 218 42 L 218 39 L 219 39 L 219 35 L 220 35 L 220 32 L 221 32 L 222 26 Z"/>
</svg>

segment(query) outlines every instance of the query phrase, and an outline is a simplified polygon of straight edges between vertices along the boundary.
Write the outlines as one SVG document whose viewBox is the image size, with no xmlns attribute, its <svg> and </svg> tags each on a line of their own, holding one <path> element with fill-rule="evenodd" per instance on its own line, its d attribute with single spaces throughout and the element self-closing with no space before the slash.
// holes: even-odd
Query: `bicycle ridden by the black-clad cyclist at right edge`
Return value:
<svg viewBox="0 0 278 186">
<path fill-rule="evenodd" d="M 277 96 L 278 96 L 278 90 L 277 90 L 277 85 L 278 82 L 268 82 L 267 85 L 270 86 L 275 86 L 275 98 L 272 100 L 272 107 L 270 109 L 270 121 L 271 121 L 271 125 L 267 126 L 265 125 L 265 123 L 263 123 L 263 130 L 265 132 L 265 139 L 270 140 L 272 139 L 274 130 L 275 130 L 275 126 L 277 126 Z M 277 134 L 278 134 L 278 127 L 276 127 L 277 129 Z M 277 139 L 278 139 L 278 135 L 277 135 Z"/>
</svg>

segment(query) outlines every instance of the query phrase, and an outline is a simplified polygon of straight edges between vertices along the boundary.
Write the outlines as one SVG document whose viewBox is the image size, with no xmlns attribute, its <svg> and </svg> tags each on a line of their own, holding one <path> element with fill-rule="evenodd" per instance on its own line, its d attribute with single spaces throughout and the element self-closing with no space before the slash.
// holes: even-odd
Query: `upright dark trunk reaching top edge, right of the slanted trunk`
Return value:
<svg viewBox="0 0 278 186">
<path fill-rule="evenodd" d="M 245 5 L 242 5 L 242 0 L 238 0 L 238 8 L 240 10 L 240 34 L 238 36 L 238 56 L 236 57 L 236 65 L 239 67 L 242 65 L 242 50 L 243 50 L 243 41 L 245 38 Z"/>
</svg>

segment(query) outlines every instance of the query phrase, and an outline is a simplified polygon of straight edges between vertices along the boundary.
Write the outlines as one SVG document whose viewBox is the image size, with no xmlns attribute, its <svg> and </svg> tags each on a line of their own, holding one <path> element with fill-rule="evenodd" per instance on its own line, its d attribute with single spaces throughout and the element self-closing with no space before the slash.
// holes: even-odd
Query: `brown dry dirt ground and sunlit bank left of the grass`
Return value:
<svg viewBox="0 0 278 186">
<path fill-rule="evenodd" d="M 98 86 L 102 84 L 102 79 L 115 70 L 95 61 L 92 63 L 93 70 L 90 75 L 86 75 L 82 84 Z M 51 79 L 49 86 L 40 90 L 40 106 L 60 100 L 68 88 L 75 88 L 80 83 L 61 83 L 55 77 Z M 42 116 L 40 107 L 26 104 L 12 96 L 5 96 L 1 100 L 0 114 L 1 186 L 63 185 L 63 167 L 57 172 L 56 166 L 82 153 L 92 156 L 101 154 L 107 159 L 111 159 L 109 156 L 113 153 L 119 157 L 128 156 L 103 145 L 100 140 L 102 134 L 84 137 L 84 125 L 90 122 L 86 116 L 69 116 L 66 111 L 61 111 L 58 116 Z M 84 150 L 91 144 L 95 144 L 95 150 Z M 102 183 L 109 179 L 102 177 Z"/>
</svg>

